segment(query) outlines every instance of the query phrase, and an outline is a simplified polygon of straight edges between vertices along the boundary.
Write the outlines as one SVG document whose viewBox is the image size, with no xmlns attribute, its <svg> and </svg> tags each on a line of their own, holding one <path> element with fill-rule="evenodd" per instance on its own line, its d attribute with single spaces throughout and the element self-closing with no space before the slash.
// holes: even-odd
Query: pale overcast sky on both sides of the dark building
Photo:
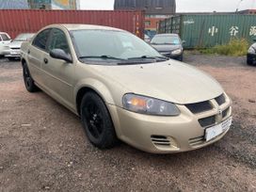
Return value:
<svg viewBox="0 0 256 192">
<path fill-rule="evenodd" d="M 177 12 L 234 11 L 241 0 L 176 0 Z M 114 0 L 80 0 L 82 9 L 113 9 Z M 256 0 L 243 0 L 239 9 L 256 8 Z"/>
</svg>

